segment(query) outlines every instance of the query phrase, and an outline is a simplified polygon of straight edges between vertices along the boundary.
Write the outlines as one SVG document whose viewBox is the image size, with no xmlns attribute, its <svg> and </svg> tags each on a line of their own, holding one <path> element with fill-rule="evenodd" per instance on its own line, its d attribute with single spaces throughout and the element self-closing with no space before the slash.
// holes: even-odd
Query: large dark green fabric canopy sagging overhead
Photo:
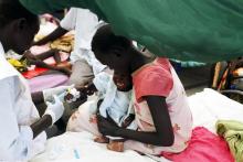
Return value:
<svg viewBox="0 0 243 162">
<path fill-rule="evenodd" d="M 20 0 L 34 13 L 88 8 L 152 53 L 212 63 L 243 55 L 243 0 Z"/>
</svg>

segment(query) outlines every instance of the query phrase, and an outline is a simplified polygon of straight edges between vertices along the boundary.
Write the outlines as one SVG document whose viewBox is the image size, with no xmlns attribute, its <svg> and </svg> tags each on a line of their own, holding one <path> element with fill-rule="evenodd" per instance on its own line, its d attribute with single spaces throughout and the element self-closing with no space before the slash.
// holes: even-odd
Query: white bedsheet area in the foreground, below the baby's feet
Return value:
<svg viewBox="0 0 243 162">
<path fill-rule="evenodd" d="M 155 162 L 135 151 L 108 151 L 105 144 L 95 143 L 93 139 L 88 132 L 66 132 L 49 140 L 45 152 L 31 162 Z M 168 162 L 166 159 L 160 160 Z"/>
</svg>

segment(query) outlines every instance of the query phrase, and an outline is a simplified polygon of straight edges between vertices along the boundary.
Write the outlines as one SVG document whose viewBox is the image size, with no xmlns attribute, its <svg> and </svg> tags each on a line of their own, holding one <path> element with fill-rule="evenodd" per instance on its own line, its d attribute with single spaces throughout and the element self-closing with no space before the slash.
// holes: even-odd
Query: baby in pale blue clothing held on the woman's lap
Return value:
<svg viewBox="0 0 243 162">
<path fill-rule="evenodd" d="M 101 115 L 114 125 L 127 129 L 137 129 L 135 122 L 135 112 L 133 107 L 133 90 L 130 89 L 131 85 L 128 85 L 127 79 L 119 75 L 114 74 L 114 76 L 103 72 L 95 76 L 93 84 L 83 88 L 83 93 L 92 95 L 97 90 L 98 99 L 94 106 L 96 111 L 89 122 L 96 122 L 96 115 Z M 68 131 L 81 131 L 82 130 L 82 119 L 78 118 L 78 110 L 75 112 L 68 123 Z M 124 151 L 124 141 L 123 138 L 114 137 L 104 137 L 98 134 L 94 141 L 99 143 L 108 143 L 107 149 L 113 151 L 123 152 Z"/>
</svg>

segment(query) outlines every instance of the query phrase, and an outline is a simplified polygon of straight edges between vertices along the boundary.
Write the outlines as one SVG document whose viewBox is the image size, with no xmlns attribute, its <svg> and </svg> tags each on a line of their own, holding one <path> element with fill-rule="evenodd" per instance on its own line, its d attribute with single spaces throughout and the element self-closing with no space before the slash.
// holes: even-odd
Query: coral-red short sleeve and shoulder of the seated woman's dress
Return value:
<svg viewBox="0 0 243 162">
<path fill-rule="evenodd" d="M 151 64 L 156 66 L 151 66 Z M 157 58 L 135 72 L 133 82 L 136 99 L 141 101 L 144 96 L 168 97 L 173 86 L 170 67 L 167 58 Z"/>
</svg>

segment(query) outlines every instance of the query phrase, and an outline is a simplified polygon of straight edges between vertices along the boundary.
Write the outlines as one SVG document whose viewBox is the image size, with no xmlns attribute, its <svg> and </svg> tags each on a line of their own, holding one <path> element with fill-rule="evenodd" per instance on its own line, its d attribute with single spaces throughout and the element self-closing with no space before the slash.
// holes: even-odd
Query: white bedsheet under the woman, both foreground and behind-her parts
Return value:
<svg viewBox="0 0 243 162">
<path fill-rule="evenodd" d="M 212 89 L 204 89 L 189 97 L 193 116 L 193 127 L 203 126 L 215 132 L 218 119 L 234 119 L 243 122 L 243 105 L 233 101 Z M 75 151 L 76 150 L 76 151 Z M 168 162 L 166 159 L 159 159 Z M 31 162 L 155 162 L 134 151 L 117 153 L 106 150 L 104 144 L 93 142 L 88 132 L 66 132 L 50 139 L 44 153 Z"/>
</svg>

